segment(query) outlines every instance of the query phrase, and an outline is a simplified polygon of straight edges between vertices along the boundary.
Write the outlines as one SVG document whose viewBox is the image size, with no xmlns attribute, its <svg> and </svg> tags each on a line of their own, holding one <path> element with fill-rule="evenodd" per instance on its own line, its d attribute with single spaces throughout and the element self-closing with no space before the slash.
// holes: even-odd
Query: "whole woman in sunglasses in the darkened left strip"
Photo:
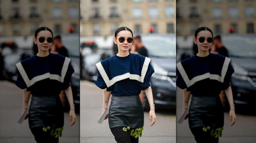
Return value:
<svg viewBox="0 0 256 143">
<path fill-rule="evenodd" d="M 75 124 L 75 104 L 70 87 L 74 69 L 70 58 L 49 53 L 53 44 L 53 32 L 47 27 L 35 31 L 34 43 L 38 53 L 16 64 L 18 78 L 15 84 L 24 89 L 22 114 L 28 108 L 32 94 L 29 114 L 29 127 L 37 143 L 57 143 L 62 135 L 64 111 L 59 94 L 65 90 L 70 103 L 70 122 Z"/>
</svg>

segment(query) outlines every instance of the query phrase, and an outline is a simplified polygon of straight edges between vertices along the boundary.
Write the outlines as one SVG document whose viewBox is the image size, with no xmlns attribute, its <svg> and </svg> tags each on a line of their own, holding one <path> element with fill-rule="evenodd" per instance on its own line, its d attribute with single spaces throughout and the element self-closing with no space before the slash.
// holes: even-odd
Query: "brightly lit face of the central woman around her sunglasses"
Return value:
<svg viewBox="0 0 256 143">
<path fill-rule="evenodd" d="M 125 39 L 124 42 L 122 42 L 122 43 L 119 42 L 119 40 L 118 40 L 121 37 Z M 133 38 L 132 33 L 128 30 L 120 31 L 117 34 L 117 38 L 114 37 L 114 42 L 115 42 L 115 44 L 117 44 L 118 51 L 121 50 L 121 51 L 125 52 L 131 48 L 133 42 L 131 42 L 131 43 L 127 42 L 127 38 Z"/>
</svg>

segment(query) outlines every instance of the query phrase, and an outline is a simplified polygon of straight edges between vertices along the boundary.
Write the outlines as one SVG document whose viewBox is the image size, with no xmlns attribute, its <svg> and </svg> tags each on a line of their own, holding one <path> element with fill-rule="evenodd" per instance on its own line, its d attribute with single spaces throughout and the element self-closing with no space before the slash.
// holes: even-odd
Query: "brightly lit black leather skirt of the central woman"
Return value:
<svg viewBox="0 0 256 143">
<path fill-rule="evenodd" d="M 108 116 L 109 128 L 144 126 L 144 111 L 138 96 L 112 96 Z"/>
</svg>

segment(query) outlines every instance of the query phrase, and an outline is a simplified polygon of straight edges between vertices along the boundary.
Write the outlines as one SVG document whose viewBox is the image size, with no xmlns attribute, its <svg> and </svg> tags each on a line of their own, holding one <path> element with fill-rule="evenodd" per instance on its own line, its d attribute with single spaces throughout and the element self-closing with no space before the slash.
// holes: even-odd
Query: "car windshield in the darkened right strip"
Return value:
<svg viewBox="0 0 256 143">
<path fill-rule="evenodd" d="M 256 57 L 256 36 L 222 36 L 228 55 L 233 57 Z"/>
</svg>

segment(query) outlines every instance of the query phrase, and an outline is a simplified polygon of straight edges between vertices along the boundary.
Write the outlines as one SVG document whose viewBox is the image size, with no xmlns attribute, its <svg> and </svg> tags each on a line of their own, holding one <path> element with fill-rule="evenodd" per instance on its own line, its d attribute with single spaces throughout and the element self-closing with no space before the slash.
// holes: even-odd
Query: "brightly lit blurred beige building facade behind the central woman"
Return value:
<svg viewBox="0 0 256 143">
<path fill-rule="evenodd" d="M 80 0 L 80 35 L 114 35 L 121 26 L 134 34 L 176 33 L 175 0 Z"/>
</svg>

